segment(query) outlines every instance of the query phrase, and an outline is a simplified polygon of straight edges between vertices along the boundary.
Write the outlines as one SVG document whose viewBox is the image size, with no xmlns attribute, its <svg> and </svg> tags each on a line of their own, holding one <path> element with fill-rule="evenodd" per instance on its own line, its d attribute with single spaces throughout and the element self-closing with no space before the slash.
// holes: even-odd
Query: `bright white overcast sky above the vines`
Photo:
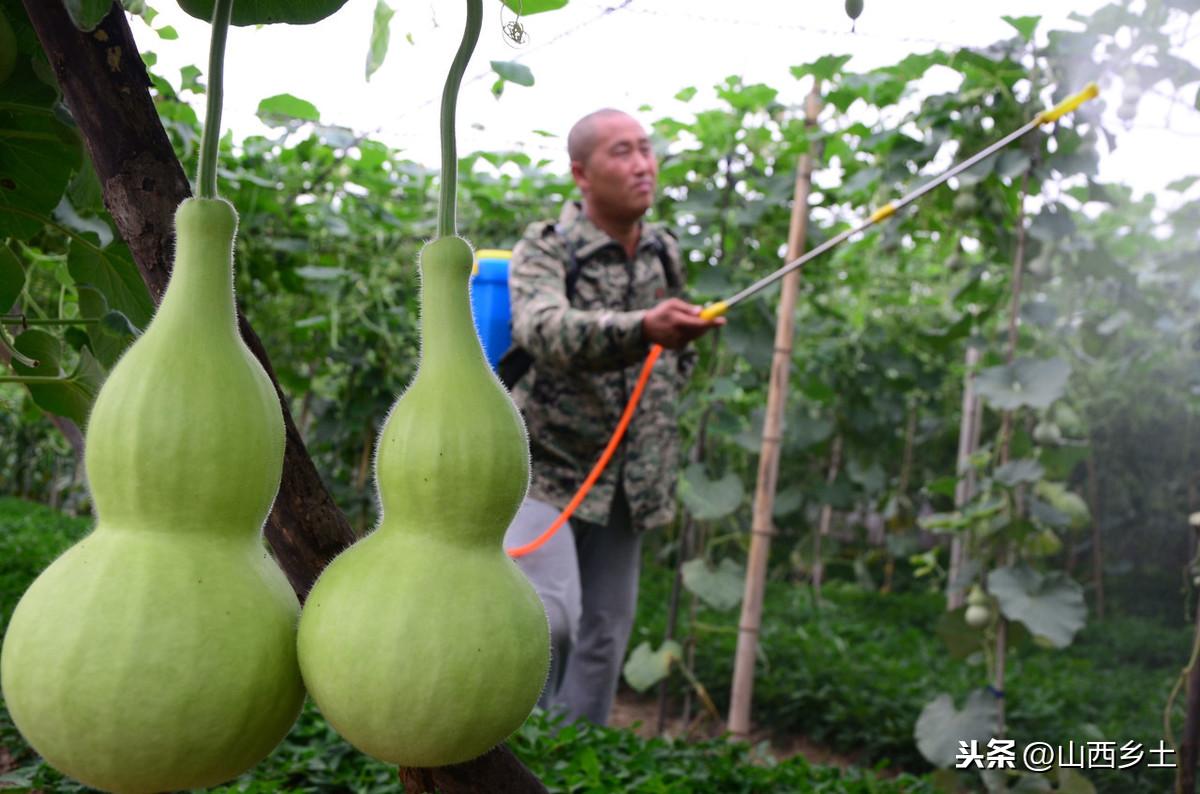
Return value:
<svg viewBox="0 0 1200 794">
<path fill-rule="evenodd" d="M 158 55 L 157 71 L 178 84 L 179 68 L 208 61 L 208 25 L 184 14 L 175 2 L 151 4 L 155 28 L 170 25 L 176 41 L 160 40 L 140 23 L 134 35 L 143 50 Z M 254 110 L 259 100 L 293 94 L 314 103 L 322 121 L 371 132 L 402 148 L 414 160 L 436 164 L 437 112 L 442 83 L 462 35 L 462 2 L 391 0 L 396 16 L 391 49 L 383 67 L 365 79 L 374 0 L 348 0 L 317 25 L 234 29 L 226 67 L 224 125 L 235 139 L 265 128 Z M 562 139 L 533 134 L 545 130 L 565 137 L 575 119 L 598 107 L 636 110 L 650 120 L 686 115 L 716 104 L 712 86 L 738 74 L 781 90 L 785 102 L 802 101 L 808 86 L 788 67 L 827 54 L 851 54 L 847 68 L 893 64 L 935 47 L 986 44 L 1012 35 L 1001 17 L 1042 14 L 1040 30 L 1073 26 L 1070 11 L 1090 13 L 1104 0 L 865 0 L 851 32 L 842 0 L 570 0 L 562 11 L 527 17 L 528 41 L 509 42 L 502 23 L 511 19 L 497 0 L 485 2 L 479 47 L 467 70 L 460 100 L 460 152 L 521 148 L 533 156 L 564 160 Z M 1052 7 L 1054 11 L 1048 11 Z M 1177 54 L 1200 64 L 1200 31 Z M 412 37 L 412 43 L 407 41 Z M 535 85 L 508 85 L 491 94 L 491 60 L 520 60 L 533 70 Z M 944 77 L 943 77 L 944 79 Z M 1116 128 L 1120 84 L 1098 79 Z M 944 90 L 946 85 L 934 88 Z M 672 97 L 685 86 L 700 92 L 684 106 Z M 1186 97 L 1194 100 L 1196 86 Z M 199 110 L 198 106 L 198 110 Z M 1171 130 L 1166 130 L 1166 125 Z M 1104 152 L 1102 178 L 1158 192 L 1184 174 L 1200 173 L 1200 112 L 1154 96 L 1144 98 L 1133 130 L 1117 150 Z"/>
</svg>

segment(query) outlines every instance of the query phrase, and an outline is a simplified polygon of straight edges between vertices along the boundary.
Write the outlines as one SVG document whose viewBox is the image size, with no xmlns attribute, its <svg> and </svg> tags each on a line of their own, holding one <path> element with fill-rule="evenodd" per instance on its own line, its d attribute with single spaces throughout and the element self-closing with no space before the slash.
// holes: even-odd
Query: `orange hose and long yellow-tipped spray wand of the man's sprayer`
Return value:
<svg viewBox="0 0 1200 794">
<path fill-rule="evenodd" d="M 728 297 L 722 301 L 716 301 L 714 303 L 709 303 L 703 309 L 701 309 L 700 317 L 706 320 L 712 320 L 718 317 L 725 315 L 725 313 L 728 312 L 731 308 L 737 306 L 745 299 L 750 297 L 751 295 L 762 291 L 767 287 L 770 287 L 787 273 L 793 272 L 796 270 L 800 270 L 812 259 L 816 259 L 827 251 L 830 251 L 832 248 L 840 246 L 842 242 L 854 236 L 859 231 L 865 231 L 876 223 L 892 217 L 893 215 L 896 213 L 898 210 L 907 206 L 908 204 L 912 204 L 925 193 L 929 193 L 935 187 L 938 187 L 940 185 L 944 184 L 950 178 L 956 176 L 958 174 L 961 174 L 962 172 L 971 168 L 972 166 L 976 166 L 977 163 L 986 160 L 988 157 L 991 157 L 1004 146 L 1008 146 L 1013 142 L 1025 137 L 1026 134 L 1037 130 L 1042 125 L 1057 121 L 1062 116 L 1079 108 L 1079 106 L 1084 104 L 1088 100 L 1094 98 L 1098 94 L 1099 94 L 1099 88 L 1096 85 L 1096 83 L 1088 83 L 1087 86 L 1079 94 L 1074 94 L 1067 97 L 1066 100 L 1063 100 L 1062 102 L 1060 102 L 1058 104 L 1054 106 L 1048 110 L 1043 110 L 1037 116 L 1034 116 L 1032 121 L 1020 127 L 1019 130 L 1009 133 L 1008 136 L 1001 138 L 1000 140 L 991 144 L 983 151 L 973 155 L 972 157 L 968 157 L 967 160 L 962 161 L 958 166 L 954 166 L 953 168 L 941 174 L 940 176 L 930 180 L 929 182 L 925 182 L 917 190 L 906 193 L 899 199 L 889 201 L 883 206 L 878 207 L 858 225 L 846 229 L 841 234 L 838 234 L 830 237 L 829 240 L 826 240 L 820 246 L 812 248 L 808 253 L 787 263 L 786 265 L 784 265 L 779 270 L 775 270 L 770 275 L 760 278 L 758 281 L 750 284 L 749 287 L 737 293 L 732 297 Z M 649 355 L 646 356 L 646 362 L 642 365 L 642 371 L 637 377 L 637 385 L 634 386 L 634 392 L 630 395 L 629 402 L 625 404 L 625 411 L 622 414 L 620 421 L 617 422 L 617 429 L 613 431 L 612 438 L 608 439 L 608 445 L 600 455 L 600 459 L 596 461 L 596 464 L 592 468 L 592 471 L 583 481 L 583 485 L 580 486 L 578 492 L 575 494 L 571 501 L 566 505 L 566 507 L 563 509 L 563 512 L 558 516 L 558 518 L 554 519 L 554 523 L 552 523 L 546 529 L 546 531 L 544 531 L 541 535 L 539 535 L 533 541 L 526 543 L 524 546 L 518 546 L 516 548 L 508 549 L 509 557 L 511 558 L 524 557 L 526 554 L 529 554 L 530 552 L 541 548 L 541 546 L 546 543 L 546 541 L 548 541 L 551 537 L 553 537 L 554 533 L 557 533 L 559 528 L 562 528 L 562 525 L 566 523 L 566 521 L 571 517 L 575 510 L 580 506 L 580 504 L 587 497 L 588 492 L 592 489 L 592 486 L 600 477 L 600 474 L 605 470 L 605 467 L 608 465 L 608 461 L 612 459 L 613 453 L 617 451 L 617 446 L 620 444 L 620 439 L 625 435 L 625 428 L 629 427 L 629 422 L 634 416 L 634 411 L 637 410 L 637 403 L 642 398 L 642 392 L 646 390 L 646 383 L 650 379 L 650 371 L 654 368 L 654 362 L 659 360 L 659 356 L 661 354 L 662 354 L 661 345 L 655 344 L 650 348 L 650 353 Z"/>
</svg>

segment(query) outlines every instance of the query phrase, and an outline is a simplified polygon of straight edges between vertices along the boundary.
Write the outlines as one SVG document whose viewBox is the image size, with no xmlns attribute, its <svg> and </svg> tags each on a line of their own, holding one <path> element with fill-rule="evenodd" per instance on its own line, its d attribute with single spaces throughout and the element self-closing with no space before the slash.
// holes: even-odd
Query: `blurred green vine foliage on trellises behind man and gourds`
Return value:
<svg viewBox="0 0 1200 794">
<path fill-rule="evenodd" d="M 0 350 L 8 363 L 0 377 L 0 493 L 86 517 L 79 431 L 106 369 L 152 306 L 19 2 L 0 0 L 0 12 L 18 52 L 0 82 L 0 175 L 11 181 L 0 190 Z M 680 231 L 692 296 L 703 301 L 779 265 L 802 155 L 817 166 L 809 233 L 816 245 L 1076 90 L 1076 74 L 1100 76 L 1100 100 L 805 272 L 756 699 L 764 724 L 852 748 L 868 765 L 928 770 L 914 736 L 923 710 L 938 703 L 946 718 L 970 720 L 970 706 L 952 714 L 946 697 L 958 709 L 988 679 L 978 632 L 965 633 L 960 613 L 943 615 L 947 547 L 960 537 L 979 555 L 974 581 L 1032 636 L 1013 651 L 1010 686 L 1024 692 L 1009 704 L 1013 735 L 1148 741 L 1159 730 L 1187 660 L 1180 638 L 1194 587 L 1187 518 L 1198 510 L 1200 471 L 1192 441 L 1200 205 L 1189 199 L 1198 178 L 1183 173 L 1169 196 L 1135 198 L 1128 186 L 1099 182 L 1097 170 L 1115 145 L 1103 109 L 1117 96 L 1121 120 L 1134 118 L 1147 91 L 1196 112 L 1200 70 L 1164 32 L 1186 31 L 1178 23 L 1196 12 L 1190 0 L 1147 0 L 1139 11 L 1112 4 L 1044 40 L 1037 18 L 1010 19 L 1012 37 L 988 47 L 935 49 L 863 73 L 829 55 L 797 65 L 775 86 L 731 76 L 716 86 L 715 106 L 653 122 L 662 185 L 654 216 Z M 143 58 L 192 173 L 199 126 L 187 100 L 204 92 L 204 74 L 198 66 L 160 74 L 154 54 Z M 917 91 L 934 68 L 954 72 L 956 89 Z M 526 79 L 509 66 L 496 71 L 498 88 Z M 815 127 L 779 100 L 779 86 L 793 80 L 821 83 Z M 680 100 L 695 95 L 696 86 L 680 86 Z M 438 176 L 323 119 L 302 97 L 266 97 L 259 115 L 269 134 L 222 142 L 221 191 L 241 215 L 238 297 L 322 475 L 366 531 L 376 511 L 373 440 L 415 367 L 413 263 L 434 231 Z M 487 247 L 511 246 L 526 223 L 554 217 L 572 194 L 569 175 L 521 151 L 472 152 L 460 174 L 460 228 Z M 1025 271 L 1009 365 L 1019 247 Z M 684 510 L 649 543 L 647 606 L 631 644 L 637 652 L 644 640 L 640 658 L 659 669 L 638 678 L 635 664 L 634 681 L 684 673 L 670 681 L 674 705 L 697 682 L 718 708 L 727 705 L 728 628 L 749 543 L 774 311 L 774 295 L 751 301 L 698 345 L 701 367 L 683 405 Z M 964 363 L 968 344 L 982 351 L 973 367 Z M 973 501 L 955 505 L 968 372 L 985 401 L 972 459 L 979 488 Z M 31 375 L 43 380 L 22 381 Z M 817 546 L 823 512 L 833 519 Z M 59 548 L 30 527 L 13 537 Z M 1001 557 L 1001 541 L 1025 567 Z M 13 569 L 13 582 L 44 560 L 29 565 Z M 677 567 L 691 606 L 682 642 L 666 646 L 664 604 Z M 830 583 L 822 597 L 810 588 L 818 570 Z M 1092 625 L 1084 625 L 1084 603 Z M 888 625 L 899 633 L 872 645 Z M 1069 646 L 1052 652 L 1036 637 Z M 1102 663 L 1112 654 L 1127 654 L 1118 658 L 1126 667 Z M 1102 681 L 1111 681 L 1100 687 L 1111 699 L 1088 710 L 1088 686 Z M 1114 704 L 1136 703 L 1158 714 L 1142 708 L 1140 727 L 1123 724 Z M 552 745 L 552 732 L 539 730 L 527 727 L 521 741 L 550 752 L 538 742 Z M 602 735 L 598 752 L 642 752 Z M 587 757 L 566 762 L 571 775 L 595 776 Z"/>
</svg>

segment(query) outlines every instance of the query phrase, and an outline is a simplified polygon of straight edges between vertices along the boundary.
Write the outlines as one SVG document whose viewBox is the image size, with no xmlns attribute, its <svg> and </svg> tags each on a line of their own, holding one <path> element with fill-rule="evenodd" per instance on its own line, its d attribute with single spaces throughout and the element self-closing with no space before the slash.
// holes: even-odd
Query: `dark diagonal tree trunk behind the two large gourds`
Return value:
<svg viewBox="0 0 1200 794">
<path fill-rule="evenodd" d="M 79 126 L 103 186 L 104 205 L 157 303 L 170 275 L 175 207 L 191 196 L 191 186 L 158 119 L 125 12 L 114 4 L 100 26 L 85 34 L 74 28 L 60 0 L 23 0 L 23 5 Z M 266 539 L 304 598 L 325 565 L 355 536 L 308 457 L 262 342 L 240 312 L 239 327 L 275 384 L 283 409 L 283 480 Z M 401 778 L 413 792 L 546 790 L 503 745 L 457 766 L 401 770 Z"/>
</svg>

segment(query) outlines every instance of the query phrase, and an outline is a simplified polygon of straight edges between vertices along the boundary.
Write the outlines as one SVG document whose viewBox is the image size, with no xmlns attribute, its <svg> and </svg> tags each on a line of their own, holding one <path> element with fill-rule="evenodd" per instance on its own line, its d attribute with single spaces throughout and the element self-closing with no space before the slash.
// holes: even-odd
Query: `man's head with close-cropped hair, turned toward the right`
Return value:
<svg viewBox="0 0 1200 794">
<path fill-rule="evenodd" d="M 595 211 L 632 222 L 654 203 L 659 164 L 642 125 L 624 114 L 596 120 L 596 145 L 583 163 L 571 163 L 580 192 Z"/>
</svg>

